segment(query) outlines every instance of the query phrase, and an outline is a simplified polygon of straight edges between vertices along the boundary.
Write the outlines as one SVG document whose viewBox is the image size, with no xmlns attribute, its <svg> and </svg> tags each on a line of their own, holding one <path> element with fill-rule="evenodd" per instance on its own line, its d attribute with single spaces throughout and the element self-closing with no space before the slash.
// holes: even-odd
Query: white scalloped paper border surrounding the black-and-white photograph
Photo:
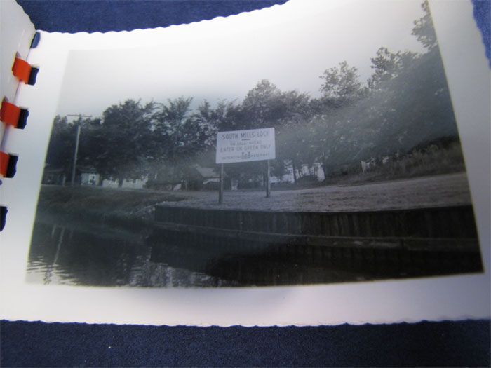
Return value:
<svg viewBox="0 0 491 368">
<path fill-rule="evenodd" d="M 383 6 L 381 4 L 370 3 L 370 8 L 379 11 Z M 344 322 L 361 324 L 489 318 L 490 74 L 480 34 L 473 21 L 471 4 L 464 1 L 434 1 L 431 3 L 431 11 L 464 151 L 484 264 L 483 273 L 325 285 L 238 288 L 86 287 L 26 282 L 26 264 L 39 184 L 53 118 L 56 114 L 97 114 L 97 110 L 60 111 L 69 103 L 63 93 L 69 91 L 72 94 L 76 90 L 76 87 L 67 89 L 64 86 L 67 78 L 76 77 L 69 71 L 74 65 L 73 60 L 83 59 L 84 52 L 92 57 L 97 50 L 100 50 L 100 55 L 114 51 L 114 55 L 124 57 L 125 50 L 131 48 L 134 50 L 128 55 L 137 53 L 144 58 L 147 56 L 145 50 L 165 49 L 166 46 L 170 48 L 196 42 L 196 39 L 206 44 L 213 37 L 227 35 L 233 41 L 262 29 L 281 33 L 288 25 L 302 24 L 320 15 L 327 17 L 330 12 L 349 13 L 350 6 L 360 5 L 358 1 L 290 1 L 261 11 L 167 29 L 106 34 L 41 32 L 39 46 L 29 54 L 29 62 L 40 67 L 36 86 L 22 86 L 17 100 L 18 104 L 29 107 L 29 129 L 22 136 L 15 135 L 8 140 L 8 147 L 19 147 L 18 172 L 15 180 L 4 182 L 1 187 L 2 196 L 15 204 L 8 212 L 7 225 L 1 233 L 1 318 L 48 322 L 221 326 L 335 325 Z M 366 13 L 361 14 L 359 16 L 362 18 L 368 17 Z M 344 40 L 346 55 L 358 48 L 349 41 Z M 250 42 L 260 43 L 253 37 Z M 278 45 L 278 53 L 290 50 L 292 44 L 295 45 L 295 41 L 288 40 Z M 417 47 L 417 43 L 413 45 Z M 376 48 L 372 53 L 375 51 Z M 226 52 L 227 49 L 224 50 Z M 301 60 L 302 55 L 299 56 Z M 343 58 L 349 56 L 343 55 L 335 60 L 342 61 Z M 87 60 L 91 62 L 93 59 Z M 104 60 L 107 61 L 107 57 Z M 196 62 L 200 62 L 199 57 Z M 267 63 L 267 60 L 264 62 Z M 124 64 L 124 60 L 114 59 L 113 72 L 118 71 L 120 63 Z M 331 66 L 335 64 L 325 68 Z M 271 67 L 271 72 L 274 70 Z M 281 68 L 276 70 L 281 74 Z M 369 71 L 369 67 L 365 71 L 361 70 L 362 73 Z M 137 70 L 127 70 L 126 73 L 128 78 L 133 74 L 140 75 Z M 154 71 L 151 68 L 144 69 L 143 74 L 147 74 L 152 81 Z M 314 76 L 318 79 L 317 74 Z M 295 78 L 292 76 L 292 79 Z M 109 92 L 115 90 L 117 95 L 119 81 L 114 80 L 114 85 L 104 82 L 97 88 Z M 285 90 L 293 88 L 280 87 Z M 81 85 L 78 98 L 90 100 L 83 88 Z M 133 96 L 136 98 L 143 97 L 144 90 L 150 86 L 135 81 L 135 88 L 140 88 L 140 95 Z M 469 94 L 469 90 L 476 91 L 476 94 Z M 93 104 L 95 106 L 97 101 Z"/>
</svg>

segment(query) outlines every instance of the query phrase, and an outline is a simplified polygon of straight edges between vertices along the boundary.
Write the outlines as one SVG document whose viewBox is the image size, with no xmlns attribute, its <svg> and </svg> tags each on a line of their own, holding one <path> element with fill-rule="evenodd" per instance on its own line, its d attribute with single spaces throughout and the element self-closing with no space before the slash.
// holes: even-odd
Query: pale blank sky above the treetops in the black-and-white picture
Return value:
<svg viewBox="0 0 491 368">
<path fill-rule="evenodd" d="M 422 52 L 411 35 L 419 0 L 294 0 L 281 6 L 174 29 L 159 47 L 70 52 L 58 114 L 101 116 L 128 98 L 166 102 L 180 96 L 242 100 L 261 79 L 281 90 L 320 95 L 325 69 L 346 60 L 366 81 L 370 57 Z M 182 37 L 179 33 L 182 32 Z M 165 33 L 163 33 L 165 36 Z"/>
</svg>

